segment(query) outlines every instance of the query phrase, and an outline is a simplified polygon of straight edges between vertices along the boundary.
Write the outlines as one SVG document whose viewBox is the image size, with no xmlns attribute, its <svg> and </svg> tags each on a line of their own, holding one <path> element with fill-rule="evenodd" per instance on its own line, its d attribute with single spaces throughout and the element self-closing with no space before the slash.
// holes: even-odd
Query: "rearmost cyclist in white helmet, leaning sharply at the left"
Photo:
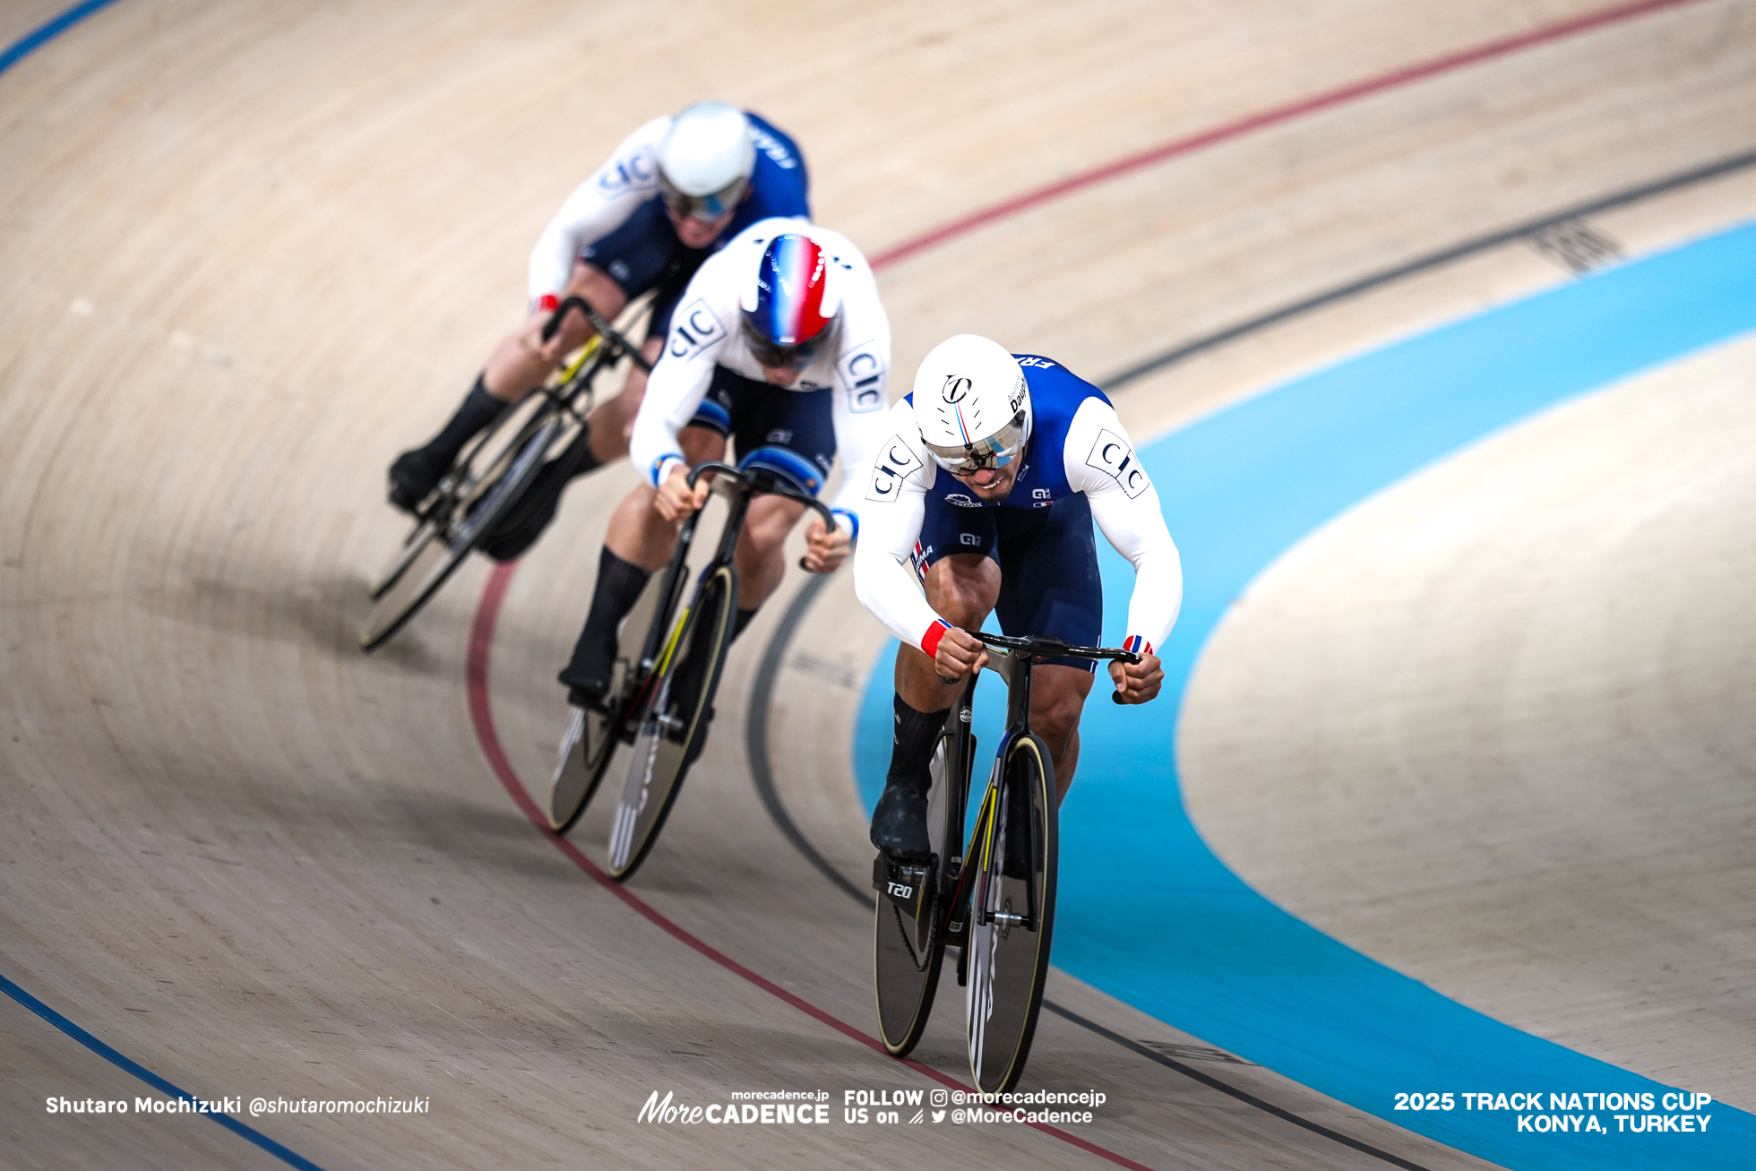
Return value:
<svg viewBox="0 0 1756 1171">
<path fill-rule="evenodd" d="M 643 348 L 651 362 L 701 262 L 757 219 L 810 219 L 808 184 L 804 158 L 790 137 L 723 102 L 655 118 L 623 139 L 537 239 L 523 327 L 493 349 L 444 428 L 390 465 L 390 502 L 418 509 L 464 444 L 592 337 L 581 314 L 567 314 L 553 341 L 543 341 L 543 327 L 562 298 L 583 297 L 599 316 L 615 320 L 632 298 L 657 290 Z M 513 541 L 516 548 L 486 542 L 490 555 L 504 560 L 529 546 L 553 516 L 567 479 L 627 451 L 644 388 L 646 376 L 634 369 L 622 395 L 592 411 L 578 441 L 515 509 L 520 516 L 507 518 L 506 527 L 523 530 Z"/>
</svg>

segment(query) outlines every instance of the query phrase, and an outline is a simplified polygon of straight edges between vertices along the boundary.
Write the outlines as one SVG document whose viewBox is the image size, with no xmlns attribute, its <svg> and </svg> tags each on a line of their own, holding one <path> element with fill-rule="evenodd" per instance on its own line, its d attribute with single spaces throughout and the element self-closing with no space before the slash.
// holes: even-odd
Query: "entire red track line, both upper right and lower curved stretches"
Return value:
<svg viewBox="0 0 1756 1171">
<path fill-rule="evenodd" d="M 1684 4 L 1695 4 L 1695 2 L 1696 0 L 1637 0 L 1637 4 L 1624 4 L 1621 7 L 1605 9 L 1601 12 L 1593 12 L 1589 16 L 1580 16 L 1570 21 L 1561 21 L 1559 25 L 1538 28 L 1535 32 L 1521 33 L 1517 37 L 1493 40 L 1489 44 L 1477 46 L 1475 49 L 1465 49 L 1461 53 L 1452 53 L 1449 56 L 1435 58 L 1421 65 L 1410 65 L 1408 68 L 1384 74 L 1380 77 L 1371 77 L 1368 81 L 1359 81 L 1350 86 L 1343 86 L 1340 90 L 1319 93 L 1317 97 L 1305 98 L 1303 102 L 1294 102 L 1291 105 L 1282 105 L 1273 111 L 1252 114 L 1240 121 L 1227 123 L 1224 126 L 1215 126 L 1213 130 L 1203 130 L 1201 133 L 1194 133 L 1185 139 L 1177 139 L 1173 142 L 1155 146 L 1150 151 L 1141 151 L 1140 154 L 1131 154 L 1113 163 L 1106 163 L 1103 167 L 1098 167 L 1096 170 L 1087 170 L 1069 179 L 1062 179 L 1059 183 L 1038 188 L 1034 191 L 1026 191 L 1024 195 L 1010 198 L 1003 204 L 996 204 L 994 207 L 978 211 L 975 214 L 964 216 L 962 219 L 954 219 L 945 226 L 934 228 L 932 232 L 918 235 L 911 241 L 904 241 L 903 244 L 897 244 L 890 251 L 874 256 L 871 260 L 871 267 L 883 269 L 899 260 L 913 256 L 915 253 L 934 248 L 936 244 L 943 244 L 945 241 L 964 235 L 966 232 L 973 232 L 975 228 L 985 226 L 997 219 L 1004 219 L 1008 216 L 1015 216 L 1022 211 L 1036 207 L 1038 204 L 1047 204 L 1050 200 L 1061 198 L 1062 195 L 1071 195 L 1073 191 L 1096 186 L 1108 179 L 1115 179 L 1133 170 L 1140 170 L 1141 167 L 1161 163 L 1178 154 L 1198 151 L 1205 146 L 1213 146 L 1227 139 L 1236 139 L 1252 130 L 1261 130 L 1264 126 L 1273 126 L 1282 121 L 1291 121 L 1303 114 L 1313 114 L 1322 109 L 1342 105 L 1343 102 L 1350 102 L 1354 98 L 1370 97 L 1373 93 L 1384 93 L 1387 90 L 1394 90 L 1396 86 L 1405 86 L 1408 83 L 1421 81 L 1424 77 L 1447 74 L 1450 70 L 1463 68 L 1465 65 L 1487 61 L 1491 58 L 1505 56 L 1519 49 L 1528 49 L 1551 40 L 1561 40 L 1563 37 L 1572 37 L 1575 33 L 1589 32 L 1593 28 L 1616 25 L 1619 21 L 1644 16 L 1647 12 L 1658 12 L 1661 9 L 1680 7 Z M 695 952 L 713 960 L 725 971 L 750 981 L 752 985 L 762 988 L 769 995 L 799 1009 L 806 1017 L 811 1017 L 813 1020 L 829 1025 L 836 1032 L 889 1057 L 889 1052 L 885 1050 L 883 1043 L 880 1043 L 876 1038 L 860 1032 L 859 1029 L 855 1029 L 853 1025 L 846 1024 L 838 1017 L 831 1017 L 829 1013 L 817 1008 L 810 1001 L 794 995 L 792 992 L 781 988 L 778 983 L 767 980 L 766 976 L 759 976 L 757 973 L 750 971 L 732 957 L 725 955 L 723 952 L 709 946 L 702 939 L 697 939 L 690 932 L 683 930 L 669 918 L 660 915 L 657 909 L 653 909 L 651 904 L 648 904 L 644 899 L 641 899 L 632 890 L 609 878 L 609 874 L 599 869 L 595 862 L 579 853 L 578 846 L 574 846 L 560 834 L 550 830 L 548 818 L 543 815 L 541 809 L 537 809 L 536 802 L 530 801 L 530 794 L 525 792 L 523 783 L 513 771 L 511 760 L 506 758 L 506 751 L 500 748 L 500 736 L 493 727 L 493 709 L 488 702 L 488 653 L 493 648 L 493 625 L 500 614 L 500 606 L 506 600 L 506 590 L 511 586 L 513 574 L 516 572 L 516 569 L 518 562 L 509 562 L 506 565 L 497 565 L 493 572 L 488 576 L 488 586 L 481 593 L 481 606 L 476 609 L 476 623 L 469 637 L 469 671 L 467 671 L 469 716 L 476 727 L 476 739 L 481 743 L 481 751 L 488 758 L 488 767 L 493 769 L 495 778 L 499 778 L 500 785 L 506 787 L 506 792 L 507 795 L 511 795 L 513 804 L 518 806 L 518 809 L 525 815 L 525 818 L 529 818 L 529 822 L 536 825 L 544 837 L 555 843 L 555 848 L 560 850 L 569 862 L 572 862 L 581 871 L 590 874 L 592 880 L 595 880 L 601 887 L 615 894 L 630 909 L 637 911 L 643 918 L 646 918 L 650 923 L 669 934 L 673 939 L 694 948 Z M 910 1069 L 927 1078 L 932 1078 L 934 1081 L 939 1081 L 941 1085 L 946 1085 L 955 1090 L 971 1092 L 971 1087 L 939 1073 L 938 1069 L 932 1069 L 931 1066 L 924 1066 L 906 1057 L 901 1059 L 901 1064 L 908 1066 Z M 1038 1131 L 1043 1131 L 1045 1134 L 1052 1134 L 1064 1143 L 1071 1143 L 1080 1150 L 1090 1152 L 1101 1159 L 1108 1159 L 1110 1162 L 1115 1162 L 1119 1166 L 1134 1167 L 1136 1171 L 1150 1171 L 1148 1167 L 1134 1162 L 1133 1159 L 1119 1155 L 1112 1150 L 1105 1150 L 1103 1146 L 1098 1146 L 1094 1143 L 1087 1143 L 1085 1139 L 1075 1134 L 1068 1134 L 1066 1131 L 1061 1131 L 1057 1127 L 1040 1122 L 1033 1122 L 1029 1125 L 1033 1125 Z"/>
</svg>

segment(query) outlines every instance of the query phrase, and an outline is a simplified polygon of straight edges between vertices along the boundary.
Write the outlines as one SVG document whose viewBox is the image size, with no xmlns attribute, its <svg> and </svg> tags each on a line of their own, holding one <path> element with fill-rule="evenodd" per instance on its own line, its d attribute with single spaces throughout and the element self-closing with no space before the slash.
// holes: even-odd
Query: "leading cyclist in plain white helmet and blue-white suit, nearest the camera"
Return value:
<svg viewBox="0 0 1756 1171">
<path fill-rule="evenodd" d="M 1115 693 L 1143 704 L 1164 671 L 1154 648 L 1177 621 L 1184 574 L 1127 432 L 1103 392 L 1066 367 L 959 334 L 920 363 L 889 413 L 860 504 L 853 560 L 860 602 L 896 634 L 896 739 L 871 841 L 899 862 L 929 857 L 929 764 L 957 683 L 987 664 L 969 630 L 997 611 L 1011 636 L 1096 646 L 1103 583 L 1092 521 L 1134 565 Z M 917 581 L 925 588 L 917 588 Z M 1048 658 L 1031 723 L 1048 744 L 1057 795 L 1080 757 L 1080 713 L 1096 664 Z"/>
</svg>

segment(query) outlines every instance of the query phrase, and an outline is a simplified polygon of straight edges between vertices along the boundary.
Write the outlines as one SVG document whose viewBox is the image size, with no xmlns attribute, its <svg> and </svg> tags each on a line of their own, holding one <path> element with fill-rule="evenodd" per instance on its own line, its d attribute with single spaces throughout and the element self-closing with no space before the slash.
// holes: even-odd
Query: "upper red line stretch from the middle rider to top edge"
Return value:
<svg viewBox="0 0 1756 1171">
<path fill-rule="evenodd" d="M 1119 158 L 1117 162 L 1105 163 L 1096 170 L 1087 170 L 1069 179 L 1050 183 L 1048 186 L 1036 188 L 1034 191 L 1026 191 L 1024 195 L 1017 195 L 1006 200 L 1004 204 L 994 204 L 992 207 L 964 216 L 962 219 L 954 219 L 952 223 L 941 228 L 934 228 L 925 235 L 917 235 L 911 241 L 897 244 L 887 253 L 873 256 L 871 267 L 876 270 L 887 265 L 894 265 L 899 260 L 906 260 L 908 256 L 934 248 L 936 244 L 943 244 L 952 237 L 964 235 L 966 232 L 973 232 L 980 226 L 990 225 L 996 219 L 1006 219 L 1010 216 L 1017 216 L 1018 212 L 1029 211 L 1038 204 L 1047 204 L 1050 200 L 1061 198 L 1062 195 L 1071 195 L 1073 191 L 1080 191 L 1083 188 L 1105 183 L 1106 179 L 1115 179 L 1131 170 L 1140 170 L 1141 167 L 1162 163 L 1164 160 L 1177 158 L 1178 154 L 1189 154 L 1191 151 L 1199 151 L 1205 146 L 1213 146 L 1217 142 L 1224 142 L 1226 139 L 1236 139 L 1252 130 L 1261 130 L 1264 126 L 1273 126 L 1277 123 L 1291 121 L 1292 118 L 1299 118 L 1303 114 L 1315 114 L 1317 111 L 1329 109 L 1331 105 L 1342 105 L 1343 102 L 1352 102 L 1354 98 L 1370 97 L 1373 93 L 1384 93 L 1385 90 L 1394 90 L 1398 86 L 1405 86 L 1412 81 L 1421 81 L 1424 77 L 1449 74 L 1456 68 L 1463 68 L 1465 65 L 1487 61 L 1491 58 L 1505 56 L 1508 53 L 1517 53 L 1519 49 L 1529 49 L 1531 46 L 1545 44 L 1549 40 L 1561 40 L 1563 37 L 1572 37 L 1573 33 L 1589 32 L 1593 28 L 1603 28 L 1605 25 L 1616 25 L 1619 21 L 1626 21 L 1635 16 L 1644 16 L 1647 12 L 1658 12 L 1659 9 L 1673 9 L 1695 2 L 1696 0 L 1637 0 L 1637 4 L 1624 4 L 1616 9 L 1605 9 L 1601 12 L 1593 12 L 1589 16 L 1579 16 L 1570 21 L 1561 21 L 1559 25 L 1549 25 L 1547 28 L 1519 33 L 1517 37 L 1491 40 L 1473 49 L 1465 49 L 1461 53 L 1440 56 L 1431 61 L 1422 61 L 1421 65 L 1410 65 L 1408 68 L 1400 68 L 1393 74 L 1382 74 L 1368 81 L 1357 81 L 1350 86 L 1342 86 L 1340 90 L 1319 93 L 1317 97 L 1305 98 L 1303 102 L 1294 102 L 1291 105 L 1282 105 L 1278 109 L 1263 111 L 1261 114 L 1250 114 L 1249 118 L 1238 119 L 1234 123 L 1215 126 L 1213 130 L 1203 130 L 1185 139 L 1175 139 L 1162 146 L 1155 146 L 1150 151 L 1141 151 L 1140 154 L 1129 154 L 1127 158 Z"/>
</svg>

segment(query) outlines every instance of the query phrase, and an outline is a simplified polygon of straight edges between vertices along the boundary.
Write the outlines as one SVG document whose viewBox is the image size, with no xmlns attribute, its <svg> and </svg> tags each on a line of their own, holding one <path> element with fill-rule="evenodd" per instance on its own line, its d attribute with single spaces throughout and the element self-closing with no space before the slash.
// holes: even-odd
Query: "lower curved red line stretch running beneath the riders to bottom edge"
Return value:
<svg viewBox="0 0 1756 1171">
<path fill-rule="evenodd" d="M 506 787 L 506 792 L 507 795 L 511 795 L 513 804 L 518 806 L 520 813 L 523 813 L 525 818 L 532 825 L 536 825 L 544 837 L 555 843 L 557 850 L 567 855 L 569 862 L 572 862 L 581 871 L 590 874 L 601 887 L 604 887 L 604 890 L 609 890 L 613 895 L 627 902 L 629 908 L 637 911 L 641 916 L 644 916 L 650 923 L 664 930 L 667 936 L 671 936 L 678 943 L 694 948 L 695 952 L 708 957 L 725 971 L 741 976 L 743 980 L 748 980 L 750 983 L 762 988 L 769 995 L 785 1001 L 787 1004 L 799 1009 L 806 1017 L 822 1022 L 831 1029 L 834 1029 L 836 1032 L 853 1041 L 859 1041 L 866 1048 L 876 1050 L 878 1053 L 889 1057 L 890 1053 L 885 1050 L 883 1043 L 878 1041 L 878 1038 L 860 1032 L 859 1029 L 855 1029 L 853 1025 L 846 1024 L 838 1017 L 831 1017 L 829 1013 L 817 1008 L 810 1001 L 788 992 L 787 988 L 781 988 L 778 983 L 767 980 L 766 976 L 759 976 L 757 973 L 750 971 L 748 967 L 745 967 L 732 957 L 725 955 L 718 948 L 683 930 L 669 918 L 660 915 L 657 909 L 653 909 L 650 902 L 646 902 L 637 894 L 634 894 L 632 890 L 613 880 L 609 874 L 606 874 L 602 869 L 599 869 L 595 862 L 579 853 L 578 846 L 574 846 L 560 834 L 550 830 L 548 818 L 543 815 L 541 809 L 537 809 L 536 802 L 530 801 L 530 794 L 525 792 L 523 783 L 518 779 L 518 772 L 513 771 L 513 762 L 506 758 L 506 750 L 500 748 L 500 734 L 493 727 L 493 709 L 488 702 L 488 653 L 493 648 L 493 623 L 500 616 L 500 604 L 506 600 L 506 590 L 513 585 L 513 572 L 516 572 L 516 569 L 518 562 L 495 565 L 493 572 L 488 576 L 488 588 L 481 592 L 481 606 L 476 609 L 476 625 L 471 629 L 469 634 L 469 718 L 471 723 L 476 725 L 476 739 L 481 741 L 481 751 L 488 758 L 488 767 L 493 769 L 493 776 L 497 776 L 500 785 Z M 975 1092 L 971 1087 L 964 1085 L 957 1078 L 950 1078 L 939 1073 L 932 1066 L 924 1066 L 918 1060 L 910 1060 L 906 1057 L 899 1060 L 915 1073 L 925 1074 L 934 1081 L 939 1081 L 941 1085 L 946 1085 L 954 1090 L 964 1090 L 966 1094 Z M 1134 1171 L 1152 1171 L 1150 1167 L 1138 1164 L 1133 1159 L 1119 1155 L 1112 1150 L 1105 1150 L 1096 1143 L 1087 1143 L 1085 1139 L 1075 1134 L 1068 1134 L 1066 1131 L 1061 1131 L 1057 1127 L 1041 1122 L 1031 1122 L 1027 1125 L 1041 1131 L 1043 1134 L 1054 1134 L 1062 1143 L 1071 1143 L 1073 1146 L 1090 1152 L 1101 1159 L 1108 1159 L 1113 1164 L 1124 1167 L 1134 1167 Z"/>
</svg>

